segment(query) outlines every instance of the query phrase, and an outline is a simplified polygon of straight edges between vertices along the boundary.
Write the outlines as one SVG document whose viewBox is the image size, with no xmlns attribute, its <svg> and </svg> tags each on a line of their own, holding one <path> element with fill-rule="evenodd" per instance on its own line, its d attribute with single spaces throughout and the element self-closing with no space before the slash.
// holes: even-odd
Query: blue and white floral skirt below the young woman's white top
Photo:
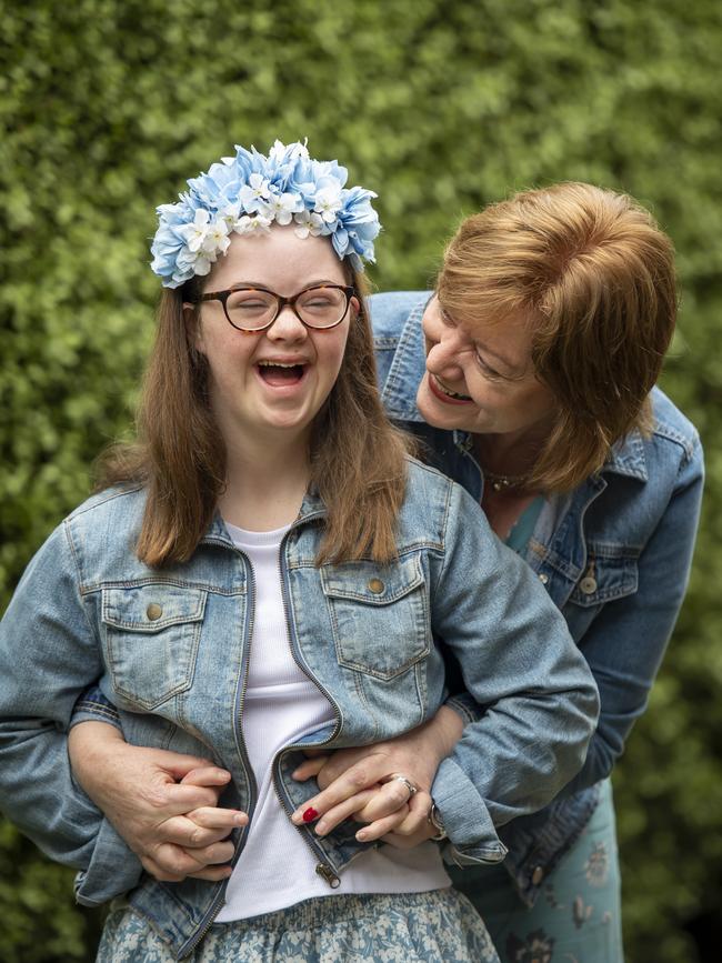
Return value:
<svg viewBox="0 0 722 963">
<path fill-rule="evenodd" d="M 455 890 L 325 896 L 218 923 L 193 963 L 499 963 L 469 901 Z M 111 912 L 97 963 L 173 963 L 172 951 L 128 906 Z"/>
</svg>

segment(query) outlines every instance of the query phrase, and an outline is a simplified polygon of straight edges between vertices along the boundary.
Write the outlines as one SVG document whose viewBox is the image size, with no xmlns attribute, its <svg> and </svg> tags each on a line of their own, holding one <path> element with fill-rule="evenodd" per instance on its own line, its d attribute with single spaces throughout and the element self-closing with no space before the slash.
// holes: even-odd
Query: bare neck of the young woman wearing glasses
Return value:
<svg viewBox="0 0 722 963">
<path fill-rule="evenodd" d="M 308 438 L 267 437 L 229 445 L 221 515 L 233 525 L 267 532 L 297 518 L 311 478 Z"/>
</svg>

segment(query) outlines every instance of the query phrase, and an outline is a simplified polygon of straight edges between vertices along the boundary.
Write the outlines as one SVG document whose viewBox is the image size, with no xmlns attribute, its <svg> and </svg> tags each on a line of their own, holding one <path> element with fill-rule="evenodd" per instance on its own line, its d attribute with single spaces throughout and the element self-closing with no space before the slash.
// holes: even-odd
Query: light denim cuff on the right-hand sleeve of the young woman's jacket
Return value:
<svg viewBox="0 0 722 963">
<path fill-rule="evenodd" d="M 507 846 L 497 834 L 485 802 L 473 782 L 452 759 L 444 759 L 431 786 L 458 866 L 500 863 Z"/>
</svg>

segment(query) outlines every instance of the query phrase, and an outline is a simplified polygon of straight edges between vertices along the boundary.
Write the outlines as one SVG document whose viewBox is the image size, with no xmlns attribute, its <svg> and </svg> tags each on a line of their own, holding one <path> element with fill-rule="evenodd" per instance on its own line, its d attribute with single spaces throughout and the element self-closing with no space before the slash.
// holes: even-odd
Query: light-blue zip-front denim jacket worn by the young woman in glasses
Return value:
<svg viewBox="0 0 722 963">
<path fill-rule="evenodd" d="M 0 623 L 0 802 L 49 855 L 83 871 L 81 902 L 131 891 L 181 959 L 211 925 L 225 882 L 142 875 L 73 783 L 67 730 L 78 696 L 100 680 L 129 742 L 211 756 L 232 774 L 223 804 L 249 812 L 252 825 L 257 786 L 240 718 L 254 583 L 219 516 L 188 562 L 147 568 L 132 549 L 143 506 L 140 489 L 90 499 L 26 570 Z M 318 568 L 323 515 L 308 494 L 280 552 L 293 656 L 335 715 L 303 744 L 368 744 L 419 725 L 449 695 L 452 653 L 487 711 L 432 792 L 453 859 L 499 862 L 497 826 L 543 806 L 584 761 L 598 715 L 584 659 L 529 566 L 433 469 L 409 461 L 392 563 Z M 273 762 L 289 813 L 317 790 L 291 778 L 300 759 L 293 745 Z M 324 839 L 299 832 L 317 872 L 342 886 L 343 867 L 367 846 L 348 826 Z M 235 860 L 245 834 L 234 832 Z"/>
</svg>

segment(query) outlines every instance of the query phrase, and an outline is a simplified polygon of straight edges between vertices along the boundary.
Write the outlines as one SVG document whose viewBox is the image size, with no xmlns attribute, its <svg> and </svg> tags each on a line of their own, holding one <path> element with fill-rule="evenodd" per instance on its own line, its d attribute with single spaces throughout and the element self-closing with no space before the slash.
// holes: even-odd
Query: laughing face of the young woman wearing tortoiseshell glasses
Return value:
<svg viewBox="0 0 722 963">
<path fill-rule="evenodd" d="M 237 284 L 292 297 L 312 284 L 347 284 L 341 261 L 325 238 L 298 238 L 291 225 L 263 235 L 234 235 L 214 264 L 204 291 Z M 310 330 L 285 305 L 271 328 L 233 328 L 220 301 L 202 303 L 195 347 L 210 369 L 213 413 L 227 444 L 244 438 L 291 440 L 308 433 L 335 383 L 358 302 L 329 330 Z"/>
</svg>

